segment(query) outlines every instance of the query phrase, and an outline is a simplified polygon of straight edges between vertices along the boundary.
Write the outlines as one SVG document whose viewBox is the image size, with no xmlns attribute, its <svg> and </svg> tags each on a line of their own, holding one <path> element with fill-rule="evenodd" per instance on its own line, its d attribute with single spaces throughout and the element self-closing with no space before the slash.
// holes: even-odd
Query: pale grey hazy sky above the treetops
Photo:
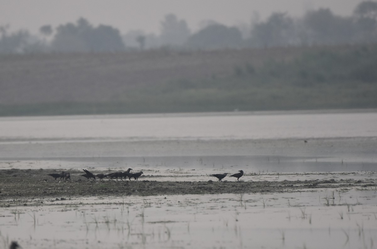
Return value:
<svg viewBox="0 0 377 249">
<path fill-rule="evenodd" d="M 250 23 L 253 12 L 265 19 L 272 12 L 287 11 L 293 17 L 308 9 L 330 8 L 335 14 L 350 15 L 362 0 L 0 0 L 0 25 L 11 30 L 28 29 L 37 34 L 40 26 L 75 22 L 84 17 L 90 23 L 116 27 L 122 34 L 143 29 L 160 31 L 166 14 L 185 19 L 192 31 L 202 20 L 215 20 L 228 26 Z"/>
</svg>

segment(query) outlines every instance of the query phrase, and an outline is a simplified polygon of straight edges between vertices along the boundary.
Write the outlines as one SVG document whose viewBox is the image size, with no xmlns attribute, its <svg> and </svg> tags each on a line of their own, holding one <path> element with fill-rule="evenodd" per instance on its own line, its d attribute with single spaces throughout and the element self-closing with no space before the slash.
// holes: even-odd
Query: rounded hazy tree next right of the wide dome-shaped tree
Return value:
<svg viewBox="0 0 377 249">
<path fill-rule="evenodd" d="M 294 23 L 287 13 L 273 13 L 265 22 L 255 23 L 251 43 L 257 47 L 286 46 L 294 43 Z"/>
</svg>

